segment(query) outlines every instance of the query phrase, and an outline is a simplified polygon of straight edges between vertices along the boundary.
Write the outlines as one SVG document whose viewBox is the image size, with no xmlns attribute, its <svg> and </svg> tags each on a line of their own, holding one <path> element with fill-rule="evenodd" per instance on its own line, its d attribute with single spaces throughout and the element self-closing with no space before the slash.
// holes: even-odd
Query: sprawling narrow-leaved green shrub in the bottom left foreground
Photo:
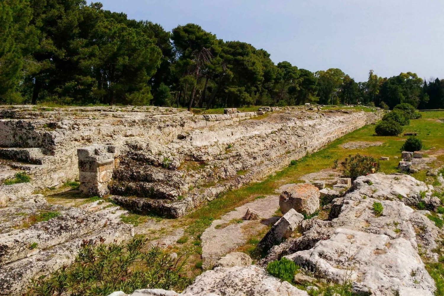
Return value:
<svg viewBox="0 0 444 296">
<path fill-rule="evenodd" d="M 135 237 L 127 244 L 105 245 L 101 240 L 99 245 L 83 245 L 71 267 L 33 279 L 25 295 L 109 295 L 144 288 L 182 290 L 190 284 L 180 275 L 189 253 L 174 259 L 159 246 L 144 252 L 146 242 Z"/>
</svg>

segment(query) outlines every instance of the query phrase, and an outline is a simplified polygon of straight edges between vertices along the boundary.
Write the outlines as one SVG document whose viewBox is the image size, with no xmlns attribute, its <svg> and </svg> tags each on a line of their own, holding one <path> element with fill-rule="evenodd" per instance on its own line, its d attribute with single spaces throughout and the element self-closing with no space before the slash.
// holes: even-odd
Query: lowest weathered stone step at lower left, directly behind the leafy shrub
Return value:
<svg viewBox="0 0 444 296">
<path fill-rule="evenodd" d="M 56 271 L 62 266 L 71 264 L 82 248 L 84 241 L 90 244 L 105 244 L 130 240 L 134 236 L 134 228 L 129 224 L 111 224 L 99 231 L 76 237 L 63 244 L 43 250 L 35 249 L 29 257 L 0 265 L 0 295 L 21 295 L 26 290 L 29 280 Z"/>
</svg>

